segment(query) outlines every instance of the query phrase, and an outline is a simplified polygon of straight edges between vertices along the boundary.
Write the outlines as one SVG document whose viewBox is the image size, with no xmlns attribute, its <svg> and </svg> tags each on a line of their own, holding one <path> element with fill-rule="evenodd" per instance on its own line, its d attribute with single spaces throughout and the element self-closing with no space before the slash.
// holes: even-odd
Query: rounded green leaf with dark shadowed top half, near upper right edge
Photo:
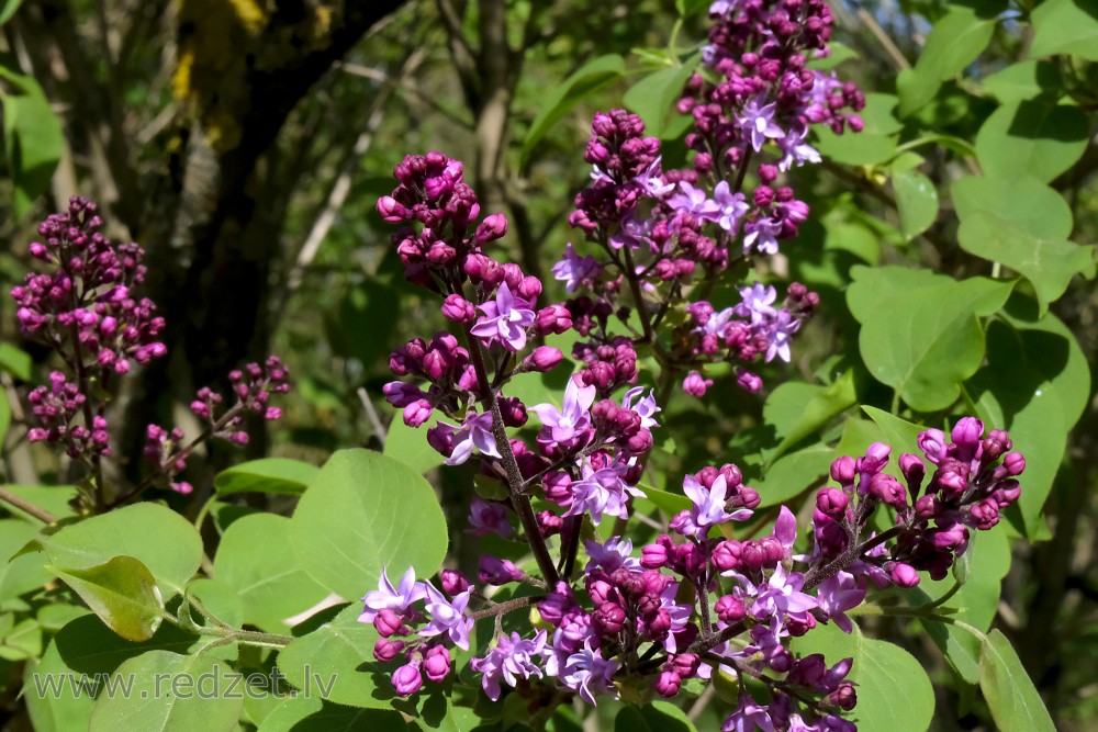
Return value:
<svg viewBox="0 0 1098 732">
<path fill-rule="evenodd" d="M 976 157 L 988 176 L 1029 173 L 1047 182 L 1083 157 L 1089 132 L 1087 115 L 1077 106 L 1004 104 L 976 134 Z"/>
</svg>

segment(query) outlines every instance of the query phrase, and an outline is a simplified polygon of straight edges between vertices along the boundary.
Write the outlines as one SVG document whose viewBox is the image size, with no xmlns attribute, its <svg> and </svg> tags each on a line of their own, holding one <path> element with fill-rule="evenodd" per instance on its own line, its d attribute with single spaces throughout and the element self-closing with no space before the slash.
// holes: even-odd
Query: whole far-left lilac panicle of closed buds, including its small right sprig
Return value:
<svg viewBox="0 0 1098 732">
<path fill-rule="evenodd" d="M 49 386 L 38 386 L 27 395 L 38 423 L 27 431 L 27 439 L 65 447 L 66 454 L 88 463 L 97 478 L 99 460 L 111 454 L 104 413 L 115 378 L 167 352 L 156 340 L 164 318 L 155 315 L 152 301 L 134 295 L 145 280 L 144 250 L 105 237 L 98 211 L 96 203 L 75 196 L 66 212 L 42 222 L 38 235 L 43 240 L 31 244 L 30 252 L 51 270 L 27 274 L 24 284 L 11 292 L 23 335 L 56 351 L 67 369 L 53 371 Z M 210 427 L 187 447 L 182 430 L 149 425 L 145 454 L 159 469 L 154 477 L 170 480 L 182 471 L 187 457 L 208 437 L 246 443 L 245 413 L 278 419 L 281 410 L 269 401 L 272 394 L 289 391 L 288 376 L 287 368 L 273 356 L 264 365 L 251 363 L 245 371 L 232 372 L 237 403 L 220 416 L 214 412 L 223 397 L 201 390 L 191 409 Z M 136 495 L 141 487 L 125 495 Z M 171 487 L 180 493 L 192 491 L 183 482 Z"/>
</svg>

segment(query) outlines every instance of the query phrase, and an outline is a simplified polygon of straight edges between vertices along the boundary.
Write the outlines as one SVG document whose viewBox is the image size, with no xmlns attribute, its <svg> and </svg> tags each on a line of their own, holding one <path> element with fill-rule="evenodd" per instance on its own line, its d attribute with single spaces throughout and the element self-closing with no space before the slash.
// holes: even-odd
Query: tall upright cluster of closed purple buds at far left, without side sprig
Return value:
<svg viewBox="0 0 1098 732">
<path fill-rule="evenodd" d="M 68 368 L 67 374 L 53 372 L 51 386 L 27 397 L 41 425 L 27 439 L 64 446 L 72 459 L 111 452 L 107 405 L 89 394 L 88 384 L 94 381 L 102 390 L 133 363 L 167 352 L 156 340 L 164 328 L 156 305 L 133 294 L 145 279 L 144 250 L 112 241 L 102 227 L 96 203 L 74 196 L 67 211 L 38 224 L 42 241 L 30 246 L 31 256 L 51 271 L 32 272 L 11 291 L 20 330 L 55 349 Z"/>
</svg>

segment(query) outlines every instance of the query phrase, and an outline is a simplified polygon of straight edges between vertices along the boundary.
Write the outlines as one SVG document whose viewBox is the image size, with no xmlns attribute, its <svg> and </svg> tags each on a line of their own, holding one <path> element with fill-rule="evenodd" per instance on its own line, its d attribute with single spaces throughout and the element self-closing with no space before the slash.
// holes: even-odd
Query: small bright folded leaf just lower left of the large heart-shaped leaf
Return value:
<svg viewBox="0 0 1098 732">
<path fill-rule="evenodd" d="M 811 388 L 805 390 L 804 386 Z M 789 393 L 791 388 L 796 388 L 796 393 Z M 778 397 L 780 393 L 782 397 Z M 789 394 L 793 398 L 786 398 L 785 394 Z M 818 432 L 831 419 L 855 404 L 858 394 L 854 391 L 854 372 L 851 369 L 824 388 L 796 382 L 782 384 L 766 398 L 766 405 L 763 407 L 763 419 L 768 424 L 773 424 L 777 436 L 782 438 L 774 452 L 768 455 L 768 460 L 781 457 L 786 450 L 809 435 Z M 776 415 L 778 408 L 783 412 L 781 417 Z M 783 424 L 776 424 L 775 420 L 778 418 Z"/>
</svg>

